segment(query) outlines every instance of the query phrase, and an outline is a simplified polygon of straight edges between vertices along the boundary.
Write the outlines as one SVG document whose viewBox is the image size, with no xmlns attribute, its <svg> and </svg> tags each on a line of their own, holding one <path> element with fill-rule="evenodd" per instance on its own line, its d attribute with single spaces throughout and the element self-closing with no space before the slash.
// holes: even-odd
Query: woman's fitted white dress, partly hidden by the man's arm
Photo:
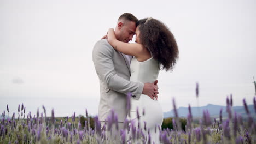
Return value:
<svg viewBox="0 0 256 144">
<path fill-rule="evenodd" d="M 131 77 L 130 81 L 140 81 L 142 83 L 154 82 L 158 78 L 159 74 L 159 63 L 153 58 L 149 58 L 146 61 L 139 62 L 136 57 L 131 60 Z M 138 108 L 137 108 L 138 107 Z M 139 118 L 137 117 L 136 110 L 139 111 Z M 144 115 L 143 115 L 144 109 Z M 141 94 L 139 100 L 131 98 L 131 110 L 130 117 L 127 119 L 132 121 L 136 126 L 138 122 L 140 123 L 140 129 L 143 131 L 144 135 L 147 137 L 148 141 L 148 131 L 150 133 L 151 143 L 160 143 L 159 141 L 159 128 L 161 128 L 163 121 L 162 108 L 158 100 L 152 100 L 147 95 Z M 144 121 L 146 122 L 147 130 L 144 131 Z M 136 127 L 136 131 L 138 127 Z M 130 129 L 131 134 L 131 129 Z M 137 140 L 141 141 L 141 140 Z M 137 143 L 137 142 L 136 142 Z"/>
</svg>

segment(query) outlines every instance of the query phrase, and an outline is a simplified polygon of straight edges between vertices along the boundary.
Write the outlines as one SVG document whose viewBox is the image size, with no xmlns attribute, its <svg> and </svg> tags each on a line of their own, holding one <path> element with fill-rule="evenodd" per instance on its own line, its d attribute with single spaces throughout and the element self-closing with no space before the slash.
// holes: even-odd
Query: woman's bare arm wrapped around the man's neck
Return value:
<svg viewBox="0 0 256 144">
<path fill-rule="evenodd" d="M 129 44 L 129 43 L 124 43 L 122 41 L 117 40 L 115 37 L 114 29 L 110 28 L 108 30 L 108 43 L 114 47 L 115 50 L 120 51 L 121 53 L 124 53 L 126 55 L 131 55 L 131 56 L 141 56 L 143 53 L 143 46 L 141 44 Z"/>
</svg>

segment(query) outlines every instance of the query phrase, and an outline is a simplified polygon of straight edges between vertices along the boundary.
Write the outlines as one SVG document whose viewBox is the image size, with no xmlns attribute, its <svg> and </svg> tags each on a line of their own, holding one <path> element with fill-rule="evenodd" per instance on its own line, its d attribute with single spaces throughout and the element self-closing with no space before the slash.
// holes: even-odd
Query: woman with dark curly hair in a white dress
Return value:
<svg viewBox="0 0 256 144">
<path fill-rule="evenodd" d="M 173 34 L 159 20 L 142 19 L 136 23 L 136 26 L 136 44 L 117 40 L 113 28 L 108 31 L 108 43 L 121 53 L 134 56 L 130 65 L 130 81 L 154 82 L 158 78 L 160 69 L 173 70 L 178 58 L 178 46 Z M 145 112 L 142 112 L 143 110 Z M 136 111 L 145 115 L 139 115 Z M 139 100 L 131 98 L 128 119 L 134 125 L 139 123 L 141 129 L 144 129 L 143 124 L 146 122 L 147 129 L 144 130 L 144 135 L 147 136 L 147 140 L 160 143 L 159 130 L 155 130 L 158 125 L 161 127 L 163 120 L 158 100 L 152 100 L 144 94 Z"/>
</svg>

